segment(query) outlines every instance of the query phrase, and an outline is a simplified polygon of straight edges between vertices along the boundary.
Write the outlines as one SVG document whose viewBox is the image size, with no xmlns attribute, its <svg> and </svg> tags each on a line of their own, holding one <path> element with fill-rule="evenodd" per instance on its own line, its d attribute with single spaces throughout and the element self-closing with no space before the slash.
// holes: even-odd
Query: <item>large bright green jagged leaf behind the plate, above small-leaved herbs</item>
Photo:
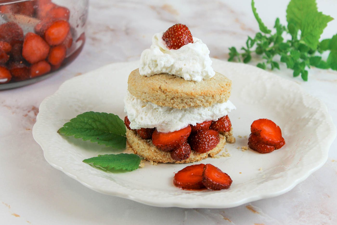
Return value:
<svg viewBox="0 0 337 225">
<path fill-rule="evenodd" d="M 288 30 L 294 35 L 301 30 L 301 40 L 316 49 L 320 35 L 332 17 L 318 12 L 315 0 L 291 0 L 287 7 Z M 294 27 L 289 27 L 294 26 Z"/>
</svg>

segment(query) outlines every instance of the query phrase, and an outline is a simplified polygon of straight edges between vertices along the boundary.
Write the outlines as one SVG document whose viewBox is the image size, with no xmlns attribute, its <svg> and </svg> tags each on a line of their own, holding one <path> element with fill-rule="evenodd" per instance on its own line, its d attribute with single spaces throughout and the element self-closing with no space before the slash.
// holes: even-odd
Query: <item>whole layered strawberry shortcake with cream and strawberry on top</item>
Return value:
<svg viewBox="0 0 337 225">
<path fill-rule="evenodd" d="M 232 81 L 212 68 L 209 49 L 176 24 L 156 33 L 124 99 L 127 145 L 160 163 L 188 163 L 234 143 L 228 113 Z"/>
</svg>

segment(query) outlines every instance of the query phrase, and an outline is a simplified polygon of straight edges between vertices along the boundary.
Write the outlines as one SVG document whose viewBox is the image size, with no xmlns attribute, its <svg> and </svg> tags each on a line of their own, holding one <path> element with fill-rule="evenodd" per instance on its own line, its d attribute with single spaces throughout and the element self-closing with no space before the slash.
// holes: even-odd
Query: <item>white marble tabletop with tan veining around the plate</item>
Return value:
<svg viewBox="0 0 337 225">
<path fill-rule="evenodd" d="M 337 2 L 317 0 L 319 10 L 337 18 Z M 285 22 L 288 0 L 256 0 L 267 26 Z M 258 31 L 250 1 L 91 0 L 87 43 L 67 68 L 19 89 L 0 91 L 0 224 L 336 224 L 337 141 L 327 163 L 279 197 L 228 209 L 157 208 L 89 190 L 51 167 L 32 137 L 40 102 L 65 80 L 117 61 L 135 60 L 151 44 L 153 33 L 175 23 L 187 24 L 211 56 L 226 60 L 228 47 L 241 47 Z M 337 20 L 323 37 L 336 33 Z M 253 64 L 256 64 L 253 63 Z M 322 99 L 337 123 L 337 72 L 311 69 L 299 83 Z"/>
</svg>

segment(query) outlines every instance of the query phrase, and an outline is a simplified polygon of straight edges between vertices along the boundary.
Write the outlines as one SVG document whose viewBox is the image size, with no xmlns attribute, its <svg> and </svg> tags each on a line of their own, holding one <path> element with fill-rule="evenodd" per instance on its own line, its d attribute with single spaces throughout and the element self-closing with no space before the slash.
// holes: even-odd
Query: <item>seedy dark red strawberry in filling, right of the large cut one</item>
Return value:
<svg viewBox="0 0 337 225">
<path fill-rule="evenodd" d="M 192 150 L 198 153 L 206 153 L 218 145 L 220 141 L 219 132 L 211 129 L 201 130 L 191 134 L 188 141 Z"/>
</svg>

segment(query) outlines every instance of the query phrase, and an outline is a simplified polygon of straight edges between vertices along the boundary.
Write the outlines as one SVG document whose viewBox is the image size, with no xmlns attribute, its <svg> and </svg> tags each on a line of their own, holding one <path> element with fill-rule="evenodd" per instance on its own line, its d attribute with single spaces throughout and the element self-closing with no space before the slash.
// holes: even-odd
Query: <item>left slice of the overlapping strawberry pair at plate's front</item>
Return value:
<svg viewBox="0 0 337 225">
<path fill-rule="evenodd" d="M 185 167 L 174 175 L 173 184 L 181 189 L 200 190 L 205 188 L 203 184 L 204 167 L 205 164 Z"/>
</svg>

